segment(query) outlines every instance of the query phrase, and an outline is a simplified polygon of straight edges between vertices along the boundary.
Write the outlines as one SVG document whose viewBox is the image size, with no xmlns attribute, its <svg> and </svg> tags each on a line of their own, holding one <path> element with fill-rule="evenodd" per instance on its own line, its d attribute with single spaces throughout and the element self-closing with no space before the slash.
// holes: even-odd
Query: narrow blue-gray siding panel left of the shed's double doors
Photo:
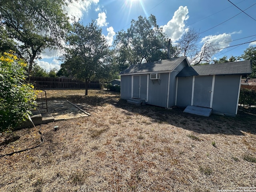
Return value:
<svg viewBox="0 0 256 192">
<path fill-rule="evenodd" d="M 121 99 L 128 100 L 132 97 L 132 76 L 121 76 Z"/>
</svg>

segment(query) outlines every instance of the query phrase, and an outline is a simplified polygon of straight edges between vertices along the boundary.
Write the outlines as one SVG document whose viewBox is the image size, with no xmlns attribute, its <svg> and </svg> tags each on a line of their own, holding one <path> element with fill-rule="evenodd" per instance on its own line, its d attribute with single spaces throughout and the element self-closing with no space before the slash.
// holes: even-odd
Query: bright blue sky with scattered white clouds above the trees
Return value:
<svg viewBox="0 0 256 192">
<path fill-rule="evenodd" d="M 96 20 L 110 45 L 118 31 L 130 27 L 132 19 L 153 14 L 173 43 L 194 28 L 200 32 L 200 45 L 217 44 L 220 50 L 212 59 L 240 56 L 249 46 L 256 46 L 256 42 L 243 44 L 256 40 L 255 0 L 78 0 L 66 10 L 84 25 Z M 58 52 L 46 50 L 38 64 L 46 71 L 58 70 Z"/>
</svg>

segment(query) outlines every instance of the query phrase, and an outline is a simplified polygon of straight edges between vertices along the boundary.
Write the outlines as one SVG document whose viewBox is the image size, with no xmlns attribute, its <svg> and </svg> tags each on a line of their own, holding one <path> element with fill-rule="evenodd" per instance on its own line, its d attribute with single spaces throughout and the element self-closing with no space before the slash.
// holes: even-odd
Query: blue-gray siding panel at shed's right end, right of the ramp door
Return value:
<svg viewBox="0 0 256 192">
<path fill-rule="evenodd" d="M 215 113 L 236 114 L 240 75 L 216 76 L 212 109 Z"/>
</svg>

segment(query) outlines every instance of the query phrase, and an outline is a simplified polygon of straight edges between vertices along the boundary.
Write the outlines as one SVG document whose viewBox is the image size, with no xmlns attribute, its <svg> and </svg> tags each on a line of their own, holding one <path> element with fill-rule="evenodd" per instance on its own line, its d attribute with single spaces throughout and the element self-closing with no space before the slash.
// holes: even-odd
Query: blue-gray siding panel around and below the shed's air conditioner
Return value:
<svg viewBox="0 0 256 192">
<path fill-rule="evenodd" d="M 160 80 L 149 79 L 148 104 L 166 107 L 169 73 L 161 73 Z"/>
</svg>

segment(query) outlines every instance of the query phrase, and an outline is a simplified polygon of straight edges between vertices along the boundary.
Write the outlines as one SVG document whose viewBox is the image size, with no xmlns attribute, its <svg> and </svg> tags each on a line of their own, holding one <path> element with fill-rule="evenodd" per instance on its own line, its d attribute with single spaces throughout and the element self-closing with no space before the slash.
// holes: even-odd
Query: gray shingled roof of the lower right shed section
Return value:
<svg viewBox="0 0 256 192">
<path fill-rule="evenodd" d="M 246 60 L 220 64 L 185 67 L 181 70 L 177 77 L 189 77 L 199 75 L 245 75 L 251 73 L 252 64 L 250 60 Z"/>
</svg>

